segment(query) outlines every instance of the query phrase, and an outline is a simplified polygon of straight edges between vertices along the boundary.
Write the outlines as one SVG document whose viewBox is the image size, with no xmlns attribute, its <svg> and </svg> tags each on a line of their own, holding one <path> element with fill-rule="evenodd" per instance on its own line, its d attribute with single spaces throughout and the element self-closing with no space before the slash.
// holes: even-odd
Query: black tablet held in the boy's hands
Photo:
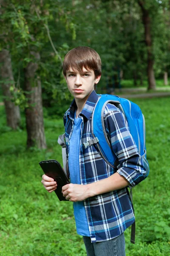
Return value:
<svg viewBox="0 0 170 256">
<path fill-rule="evenodd" d="M 65 175 L 62 166 L 57 160 L 45 160 L 41 161 L 40 166 L 48 177 L 53 178 L 57 182 L 57 189 L 54 190 L 60 201 L 67 201 L 62 195 L 62 186 L 70 183 L 68 177 Z"/>
</svg>

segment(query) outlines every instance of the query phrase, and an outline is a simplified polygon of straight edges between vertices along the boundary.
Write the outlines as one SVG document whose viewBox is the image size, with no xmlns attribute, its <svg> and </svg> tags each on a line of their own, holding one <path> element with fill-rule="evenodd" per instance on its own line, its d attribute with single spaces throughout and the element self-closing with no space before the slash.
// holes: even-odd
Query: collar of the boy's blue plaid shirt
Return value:
<svg viewBox="0 0 170 256">
<path fill-rule="evenodd" d="M 99 96 L 96 94 L 96 92 L 93 90 L 92 93 L 89 95 L 84 108 L 82 109 L 81 115 L 85 116 L 87 119 L 90 119 L 91 113 L 94 110 L 94 106 L 96 105 L 96 102 L 98 100 Z M 75 99 L 71 102 L 70 108 L 67 111 L 67 116 L 70 119 L 74 120 L 74 112 L 77 109 L 77 105 L 75 102 Z"/>
</svg>

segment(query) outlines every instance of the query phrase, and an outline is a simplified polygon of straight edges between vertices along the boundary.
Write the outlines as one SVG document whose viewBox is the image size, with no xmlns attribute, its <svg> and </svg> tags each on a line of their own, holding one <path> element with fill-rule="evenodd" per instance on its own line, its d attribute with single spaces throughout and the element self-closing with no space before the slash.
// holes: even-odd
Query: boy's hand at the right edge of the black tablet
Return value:
<svg viewBox="0 0 170 256">
<path fill-rule="evenodd" d="M 62 194 L 68 201 L 77 202 L 83 201 L 89 197 L 88 188 L 86 185 L 67 184 L 62 187 Z"/>
</svg>

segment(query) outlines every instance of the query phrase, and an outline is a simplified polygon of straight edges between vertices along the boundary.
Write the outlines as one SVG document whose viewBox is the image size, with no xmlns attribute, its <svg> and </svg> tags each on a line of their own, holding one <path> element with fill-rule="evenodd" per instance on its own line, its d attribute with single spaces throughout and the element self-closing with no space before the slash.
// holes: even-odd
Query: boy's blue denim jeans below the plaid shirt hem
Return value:
<svg viewBox="0 0 170 256">
<path fill-rule="evenodd" d="M 126 256 L 125 236 L 120 236 L 108 241 L 91 243 L 89 236 L 83 236 L 87 256 Z"/>
</svg>

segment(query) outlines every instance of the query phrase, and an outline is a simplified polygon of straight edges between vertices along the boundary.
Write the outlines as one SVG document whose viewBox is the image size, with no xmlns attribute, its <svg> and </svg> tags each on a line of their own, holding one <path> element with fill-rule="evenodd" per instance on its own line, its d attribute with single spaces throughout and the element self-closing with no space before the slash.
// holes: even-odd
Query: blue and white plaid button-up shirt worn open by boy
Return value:
<svg viewBox="0 0 170 256">
<path fill-rule="evenodd" d="M 113 168 L 106 163 L 95 144 L 87 148 L 82 144 L 93 139 L 91 117 L 98 97 L 93 91 L 79 114 L 83 119 L 79 154 L 81 184 L 93 183 L 118 172 L 129 181 L 131 186 L 135 186 L 144 180 L 145 169 L 142 157 L 129 133 L 125 117 L 118 108 L 107 104 L 104 112 L 105 128 L 117 156 L 117 166 Z M 67 157 L 69 157 L 69 140 L 76 108 L 76 102 L 73 100 L 64 115 Z M 135 220 L 127 188 L 87 198 L 84 200 L 84 205 L 91 242 L 113 239 L 124 232 Z"/>
</svg>

